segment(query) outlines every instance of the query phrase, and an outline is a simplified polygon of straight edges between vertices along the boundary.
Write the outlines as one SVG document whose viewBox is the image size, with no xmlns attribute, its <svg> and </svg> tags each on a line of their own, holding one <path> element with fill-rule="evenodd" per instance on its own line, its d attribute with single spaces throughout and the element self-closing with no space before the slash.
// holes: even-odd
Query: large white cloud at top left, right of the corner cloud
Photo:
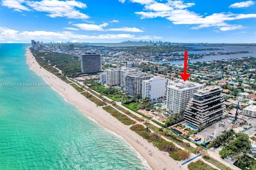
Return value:
<svg viewBox="0 0 256 170">
<path fill-rule="evenodd" d="M 47 12 L 49 17 L 66 17 L 75 19 L 88 19 L 89 16 L 83 14 L 75 9 L 77 8 L 87 8 L 86 4 L 82 2 L 77 2 L 75 0 L 70 1 L 59 1 L 59 0 L 42 0 L 40 2 L 28 1 L 26 3 L 28 6 L 36 11 Z"/>
</svg>

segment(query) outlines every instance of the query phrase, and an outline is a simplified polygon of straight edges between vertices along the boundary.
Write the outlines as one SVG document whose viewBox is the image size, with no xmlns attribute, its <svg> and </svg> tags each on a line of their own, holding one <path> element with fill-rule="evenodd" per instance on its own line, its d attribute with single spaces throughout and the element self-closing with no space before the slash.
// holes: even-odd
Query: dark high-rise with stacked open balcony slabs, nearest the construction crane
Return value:
<svg viewBox="0 0 256 170">
<path fill-rule="evenodd" d="M 197 90 L 185 108 L 185 121 L 196 127 L 207 127 L 220 120 L 223 115 L 223 96 L 220 86 L 208 86 Z"/>
</svg>

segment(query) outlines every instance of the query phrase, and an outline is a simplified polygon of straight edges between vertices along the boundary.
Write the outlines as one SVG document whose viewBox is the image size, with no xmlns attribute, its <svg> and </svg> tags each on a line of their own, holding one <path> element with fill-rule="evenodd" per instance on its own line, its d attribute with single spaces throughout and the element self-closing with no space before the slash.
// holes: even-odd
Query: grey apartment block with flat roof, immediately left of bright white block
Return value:
<svg viewBox="0 0 256 170">
<path fill-rule="evenodd" d="M 125 74 L 125 92 L 128 93 L 128 96 L 135 96 L 136 94 L 141 93 L 142 81 L 149 80 L 152 77 L 154 77 L 153 74 L 141 71 Z"/>
</svg>

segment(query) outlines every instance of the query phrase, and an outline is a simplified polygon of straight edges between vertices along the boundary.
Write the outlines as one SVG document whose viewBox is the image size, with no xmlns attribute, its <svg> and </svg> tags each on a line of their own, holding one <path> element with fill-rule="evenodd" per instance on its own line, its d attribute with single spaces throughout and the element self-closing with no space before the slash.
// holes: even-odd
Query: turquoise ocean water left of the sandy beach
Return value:
<svg viewBox="0 0 256 170">
<path fill-rule="evenodd" d="M 0 170 L 146 170 L 121 137 L 85 117 L 26 63 L 28 44 L 0 44 Z M 2 85 L 2 86 L 1 86 Z"/>
</svg>

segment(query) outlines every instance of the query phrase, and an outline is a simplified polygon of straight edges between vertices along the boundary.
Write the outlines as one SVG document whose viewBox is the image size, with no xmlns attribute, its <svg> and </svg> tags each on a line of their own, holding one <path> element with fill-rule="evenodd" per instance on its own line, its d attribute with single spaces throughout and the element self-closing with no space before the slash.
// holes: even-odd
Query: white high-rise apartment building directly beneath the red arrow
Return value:
<svg viewBox="0 0 256 170">
<path fill-rule="evenodd" d="M 186 81 L 181 79 L 173 80 L 168 83 L 166 96 L 166 109 L 169 114 L 180 113 L 184 110 L 193 93 L 203 88 L 203 84 Z"/>
</svg>

